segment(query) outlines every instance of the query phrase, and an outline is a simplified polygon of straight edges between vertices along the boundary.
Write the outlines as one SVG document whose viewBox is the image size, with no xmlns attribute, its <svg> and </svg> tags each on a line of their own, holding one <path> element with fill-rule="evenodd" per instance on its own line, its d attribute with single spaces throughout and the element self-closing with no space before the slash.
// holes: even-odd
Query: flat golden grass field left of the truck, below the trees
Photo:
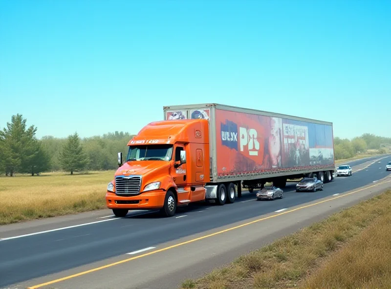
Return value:
<svg viewBox="0 0 391 289">
<path fill-rule="evenodd" d="M 114 171 L 0 177 L 0 225 L 105 208 Z"/>
</svg>

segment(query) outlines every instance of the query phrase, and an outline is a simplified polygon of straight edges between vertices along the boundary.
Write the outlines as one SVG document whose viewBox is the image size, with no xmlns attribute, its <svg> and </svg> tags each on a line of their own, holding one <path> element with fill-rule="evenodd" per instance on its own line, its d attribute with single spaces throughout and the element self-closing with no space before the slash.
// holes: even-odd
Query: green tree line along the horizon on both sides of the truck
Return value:
<svg viewBox="0 0 391 289">
<path fill-rule="evenodd" d="M 127 132 L 114 132 L 81 139 L 75 132 L 67 138 L 36 137 L 37 127 L 27 127 L 22 115 L 12 116 L 0 130 L 0 174 L 32 176 L 47 171 L 77 171 L 116 169 L 117 153 L 127 154 L 127 144 L 133 137 Z M 391 138 L 363 134 L 352 140 L 334 138 L 336 160 L 348 159 L 368 149 L 388 152 Z"/>
</svg>

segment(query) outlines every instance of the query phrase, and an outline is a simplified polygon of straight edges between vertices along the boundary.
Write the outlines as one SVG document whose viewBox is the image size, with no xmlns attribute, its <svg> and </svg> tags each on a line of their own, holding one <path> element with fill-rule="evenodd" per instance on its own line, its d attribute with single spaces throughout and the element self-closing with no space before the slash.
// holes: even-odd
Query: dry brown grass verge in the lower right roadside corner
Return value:
<svg viewBox="0 0 391 289">
<path fill-rule="evenodd" d="M 390 231 L 388 190 L 182 288 L 391 288 Z"/>
</svg>

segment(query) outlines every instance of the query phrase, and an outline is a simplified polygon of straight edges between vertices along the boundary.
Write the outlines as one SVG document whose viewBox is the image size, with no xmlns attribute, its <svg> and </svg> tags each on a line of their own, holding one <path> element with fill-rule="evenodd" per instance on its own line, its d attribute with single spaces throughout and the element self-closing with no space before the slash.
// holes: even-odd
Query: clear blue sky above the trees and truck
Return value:
<svg viewBox="0 0 391 289">
<path fill-rule="evenodd" d="M 223 103 L 391 137 L 389 0 L 0 0 L 0 127 L 137 133 Z"/>
</svg>

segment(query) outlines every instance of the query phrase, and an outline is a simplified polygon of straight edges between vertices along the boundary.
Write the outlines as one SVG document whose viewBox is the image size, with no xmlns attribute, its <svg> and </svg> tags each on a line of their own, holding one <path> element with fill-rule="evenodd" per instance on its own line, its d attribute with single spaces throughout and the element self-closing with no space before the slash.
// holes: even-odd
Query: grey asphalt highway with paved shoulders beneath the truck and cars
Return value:
<svg viewBox="0 0 391 289">
<path fill-rule="evenodd" d="M 0 288 L 177 288 L 186 277 L 390 187 L 389 161 L 391 156 L 352 161 L 351 177 L 334 178 L 316 193 L 296 193 L 295 183 L 288 183 L 284 198 L 275 201 L 256 201 L 243 191 L 234 204 L 194 204 L 172 218 L 154 211 L 115 218 L 101 210 L 1 226 Z M 86 272 L 94 268 L 99 270 Z"/>
</svg>

